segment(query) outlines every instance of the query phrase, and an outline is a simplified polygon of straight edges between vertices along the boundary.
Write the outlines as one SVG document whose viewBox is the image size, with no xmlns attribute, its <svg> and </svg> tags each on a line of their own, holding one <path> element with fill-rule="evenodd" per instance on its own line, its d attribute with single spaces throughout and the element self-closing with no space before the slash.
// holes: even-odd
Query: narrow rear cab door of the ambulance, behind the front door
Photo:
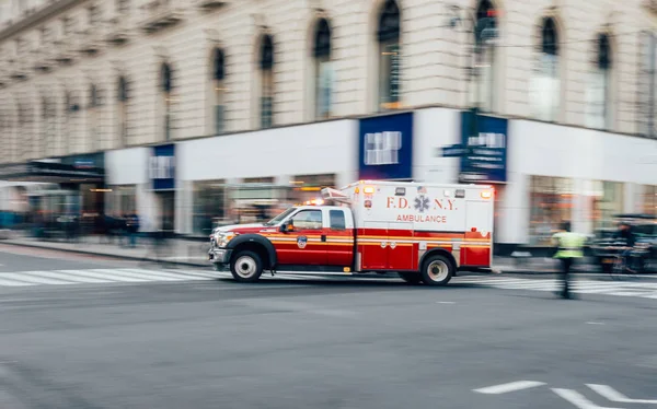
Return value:
<svg viewBox="0 0 657 409">
<path fill-rule="evenodd" d="M 354 264 L 354 219 L 344 209 L 326 208 L 323 211 L 326 265 L 350 268 Z"/>
</svg>

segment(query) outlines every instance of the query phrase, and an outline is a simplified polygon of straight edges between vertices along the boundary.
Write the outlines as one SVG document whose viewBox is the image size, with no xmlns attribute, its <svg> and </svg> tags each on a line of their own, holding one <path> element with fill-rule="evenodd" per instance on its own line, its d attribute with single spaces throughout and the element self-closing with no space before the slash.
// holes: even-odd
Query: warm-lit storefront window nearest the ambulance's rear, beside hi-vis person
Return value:
<svg viewBox="0 0 657 409">
<path fill-rule="evenodd" d="M 550 246 L 552 234 L 560 224 L 572 220 L 575 203 L 573 179 L 563 177 L 531 177 L 530 242 Z"/>
</svg>

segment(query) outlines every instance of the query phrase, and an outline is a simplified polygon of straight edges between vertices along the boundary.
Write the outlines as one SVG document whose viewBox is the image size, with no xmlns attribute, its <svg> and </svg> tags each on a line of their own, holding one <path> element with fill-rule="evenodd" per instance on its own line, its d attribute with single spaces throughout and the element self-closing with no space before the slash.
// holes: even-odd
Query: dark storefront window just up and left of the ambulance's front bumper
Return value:
<svg viewBox="0 0 657 409">
<path fill-rule="evenodd" d="M 194 234 L 207 235 L 218 225 L 229 224 L 226 219 L 226 182 L 194 183 Z"/>
</svg>

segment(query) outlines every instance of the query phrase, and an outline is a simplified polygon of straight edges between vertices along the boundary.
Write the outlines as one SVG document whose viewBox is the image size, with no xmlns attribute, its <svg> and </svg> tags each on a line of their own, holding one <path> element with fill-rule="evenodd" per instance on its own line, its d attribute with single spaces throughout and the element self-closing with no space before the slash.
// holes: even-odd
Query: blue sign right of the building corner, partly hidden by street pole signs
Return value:
<svg viewBox="0 0 657 409">
<path fill-rule="evenodd" d="M 461 113 L 461 143 L 465 152 L 461 156 L 460 183 L 506 183 L 508 120 L 491 116 Z"/>
</svg>

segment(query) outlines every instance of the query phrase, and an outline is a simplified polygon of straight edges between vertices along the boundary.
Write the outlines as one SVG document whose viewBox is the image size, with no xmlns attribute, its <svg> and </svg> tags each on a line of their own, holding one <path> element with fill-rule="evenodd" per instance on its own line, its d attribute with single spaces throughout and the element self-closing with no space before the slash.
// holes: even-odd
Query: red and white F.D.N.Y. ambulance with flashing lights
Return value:
<svg viewBox="0 0 657 409">
<path fill-rule="evenodd" d="M 264 224 L 216 229 L 210 262 L 241 282 L 265 270 L 394 271 L 445 285 L 458 270 L 491 268 L 491 186 L 361 180 L 322 196 Z"/>
</svg>

